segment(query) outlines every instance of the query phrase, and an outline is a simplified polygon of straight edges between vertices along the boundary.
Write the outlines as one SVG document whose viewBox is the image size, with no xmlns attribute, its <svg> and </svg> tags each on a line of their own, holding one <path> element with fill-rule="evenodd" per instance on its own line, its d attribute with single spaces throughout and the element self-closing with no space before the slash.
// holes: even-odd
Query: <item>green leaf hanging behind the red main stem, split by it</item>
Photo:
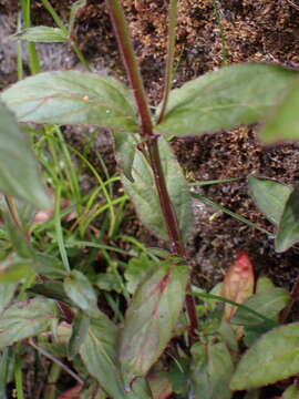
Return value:
<svg viewBox="0 0 299 399">
<path fill-rule="evenodd" d="M 158 140 L 158 150 L 169 197 L 176 211 L 183 238 L 186 239 L 193 223 L 189 188 L 171 145 L 163 137 Z M 167 239 L 153 172 L 141 151 L 135 152 L 132 177 L 134 183 L 125 176 L 122 176 L 122 181 L 136 206 L 141 221 L 158 237 Z"/>
</svg>

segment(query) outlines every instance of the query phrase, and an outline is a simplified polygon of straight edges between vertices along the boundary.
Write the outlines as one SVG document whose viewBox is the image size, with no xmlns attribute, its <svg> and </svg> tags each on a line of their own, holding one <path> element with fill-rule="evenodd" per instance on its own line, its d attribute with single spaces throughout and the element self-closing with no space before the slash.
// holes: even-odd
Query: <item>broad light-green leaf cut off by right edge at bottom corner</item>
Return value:
<svg viewBox="0 0 299 399">
<path fill-rule="evenodd" d="M 266 332 L 243 356 L 230 382 L 234 390 L 258 388 L 299 372 L 299 324 Z"/>
</svg>

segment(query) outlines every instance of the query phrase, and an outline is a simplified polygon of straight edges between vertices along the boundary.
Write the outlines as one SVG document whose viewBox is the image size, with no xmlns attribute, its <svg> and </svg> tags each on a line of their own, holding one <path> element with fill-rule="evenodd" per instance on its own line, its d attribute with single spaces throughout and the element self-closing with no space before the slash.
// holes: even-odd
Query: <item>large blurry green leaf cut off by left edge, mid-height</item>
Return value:
<svg viewBox="0 0 299 399">
<path fill-rule="evenodd" d="M 0 191 L 35 207 L 50 206 L 28 137 L 1 101 L 0 143 Z"/>
</svg>

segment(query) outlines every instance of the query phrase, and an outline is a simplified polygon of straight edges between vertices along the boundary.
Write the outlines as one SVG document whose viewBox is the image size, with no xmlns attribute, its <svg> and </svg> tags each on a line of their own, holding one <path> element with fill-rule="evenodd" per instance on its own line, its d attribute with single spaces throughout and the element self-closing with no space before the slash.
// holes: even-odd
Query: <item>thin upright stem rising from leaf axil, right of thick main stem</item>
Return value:
<svg viewBox="0 0 299 399">
<path fill-rule="evenodd" d="M 167 41 L 165 79 L 164 79 L 165 88 L 163 93 L 162 108 L 157 119 L 157 124 L 159 124 L 163 121 L 166 111 L 166 105 L 168 102 L 169 92 L 173 85 L 176 22 L 177 22 L 177 0 L 171 0 L 169 9 L 168 9 L 168 41 Z"/>
</svg>

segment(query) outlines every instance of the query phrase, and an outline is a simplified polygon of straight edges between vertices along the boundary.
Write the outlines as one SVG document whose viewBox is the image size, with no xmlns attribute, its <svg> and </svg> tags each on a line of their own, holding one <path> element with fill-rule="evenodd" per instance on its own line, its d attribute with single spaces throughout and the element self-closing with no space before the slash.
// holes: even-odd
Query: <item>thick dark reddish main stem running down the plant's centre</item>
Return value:
<svg viewBox="0 0 299 399">
<path fill-rule="evenodd" d="M 123 63 L 125 65 L 127 76 L 135 95 L 142 124 L 142 136 L 145 139 L 148 149 L 150 162 L 154 174 L 165 226 L 171 242 L 171 249 L 173 254 L 186 257 L 186 249 L 182 239 L 177 216 L 166 186 L 158 152 L 157 136 L 153 131 L 151 111 L 147 104 L 143 80 L 134 54 L 124 11 L 118 0 L 105 1 L 123 58 Z M 187 290 L 190 290 L 190 284 L 188 284 Z M 186 309 L 190 323 L 190 335 L 192 337 L 195 337 L 196 330 L 198 329 L 198 321 L 194 297 L 189 295 L 186 296 Z"/>
</svg>

